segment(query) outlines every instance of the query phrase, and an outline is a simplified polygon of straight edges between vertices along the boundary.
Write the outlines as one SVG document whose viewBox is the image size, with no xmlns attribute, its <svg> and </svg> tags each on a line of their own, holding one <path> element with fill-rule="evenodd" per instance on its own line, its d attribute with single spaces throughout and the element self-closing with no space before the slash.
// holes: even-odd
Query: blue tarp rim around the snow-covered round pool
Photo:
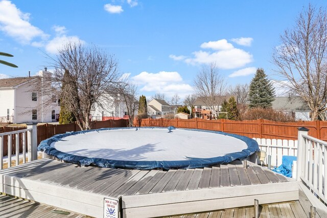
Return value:
<svg viewBox="0 0 327 218">
<path fill-rule="evenodd" d="M 211 132 L 215 134 L 222 134 L 227 135 L 231 137 L 238 138 L 242 141 L 244 141 L 247 144 L 247 149 L 244 149 L 240 152 L 235 152 L 231 154 L 227 154 L 221 157 L 213 157 L 213 158 L 190 158 L 189 160 L 178 160 L 178 161 L 126 161 L 126 160 L 109 160 L 109 159 L 103 159 L 103 158 L 89 158 L 89 157 L 83 157 L 83 156 L 77 156 L 72 154 L 67 154 L 61 151 L 58 151 L 55 148 L 51 147 L 51 143 L 55 141 L 61 140 L 61 138 L 69 136 L 69 135 L 78 135 L 78 134 L 84 134 L 86 132 L 92 132 L 92 131 L 104 131 L 104 130 L 113 130 L 113 129 L 139 129 L 138 128 L 103 128 L 98 130 L 85 130 L 85 131 L 79 131 L 79 132 L 67 132 L 64 134 L 58 134 L 54 135 L 51 138 L 45 139 L 41 141 L 41 143 L 38 146 L 38 151 L 43 151 L 46 154 L 49 154 L 51 156 L 55 156 L 60 160 L 64 160 L 67 162 L 80 164 L 80 165 L 98 165 L 100 167 L 111 167 L 111 168 L 134 168 L 134 169 L 153 169 L 153 168 L 164 168 L 164 169 L 170 169 L 170 168 L 198 168 L 198 167 L 206 167 L 211 166 L 214 164 L 223 164 L 223 163 L 229 163 L 236 159 L 245 159 L 248 156 L 252 155 L 254 152 L 260 151 L 258 143 L 248 137 L 236 135 L 236 134 L 230 134 L 230 133 L 224 133 L 224 132 L 218 132 L 218 131 L 209 131 L 209 130 L 198 130 L 198 129 L 181 129 L 181 130 L 188 130 L 188 131 L 200 131 L 200 132 Z M 141 128 L 147 128 L 147 129 L 154 129 L 154 128 L 160 128 L 160 127 L 141 127 Z M 165 128 L 161 128 L 165 129 Z M 174 127 L 169 127 L 169 131 L 174 130 Z M 219 143 L 219 142 L 217 142 Z"/>
</svg>

